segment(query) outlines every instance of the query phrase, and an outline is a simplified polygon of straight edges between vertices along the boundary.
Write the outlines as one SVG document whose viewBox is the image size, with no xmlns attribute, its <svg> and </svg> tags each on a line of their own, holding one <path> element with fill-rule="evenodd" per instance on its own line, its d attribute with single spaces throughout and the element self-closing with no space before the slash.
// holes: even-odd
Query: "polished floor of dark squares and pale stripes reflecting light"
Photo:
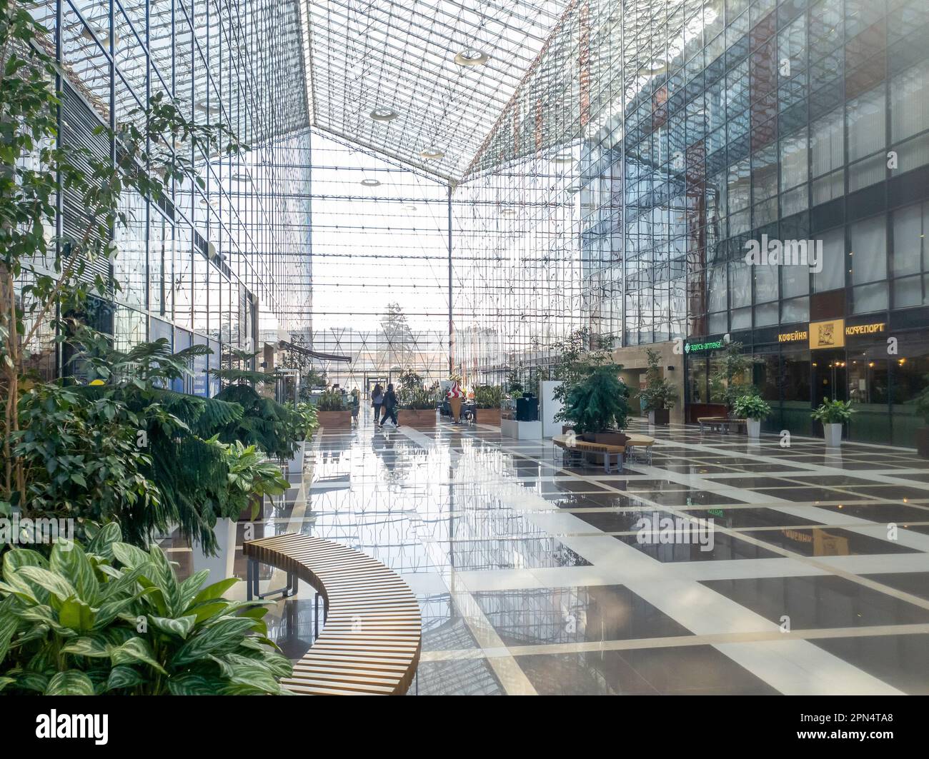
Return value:
<svg viewBox="0 0 929 759">
<path fill-rule="evenodd" d="M 609 476 L 490 426 L 322 430 L 256 536 L 319 535 L 404 577 L 411 694 L 929 693 L 929 462 L 634 429 L 658 439 L 650 465 Z M 297 658 L 313 620 L 301 585 L 271 635 Z"/>
</svg>

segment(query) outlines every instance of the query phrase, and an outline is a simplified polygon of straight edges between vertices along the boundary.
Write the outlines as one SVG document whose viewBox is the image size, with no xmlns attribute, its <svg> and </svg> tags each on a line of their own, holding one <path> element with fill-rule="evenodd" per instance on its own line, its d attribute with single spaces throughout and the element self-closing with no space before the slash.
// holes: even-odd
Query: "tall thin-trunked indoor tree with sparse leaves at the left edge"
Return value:
<svg viewBox="0 0 929 759">
<path fill-rule="evenodd" d="M 118 254 L 116 230 L 131 222 L 123 210 L 127 192 L 157 202 L 185 180 L 203 188 L 193 155 L 236 155 L 246 149 L 225 125 L 186 119 L 180 103 L 164 93 L 151 96 L 115 131 L 102 123 L 95 128 L 95 135 L 110 142 L 115 159 L 59 139 L 55 83 L 60 71 L 43 47 L 48 35 L 28 4 L 0 0 L 0 509 L 7 511 L 30 507 L 33 477 L 40 478 L 40 487 L 47 484 L 47 474 L 31 466 L 44 444 L 56 450 L 56 470 L 62 463 L 75 469 L 61 484 L 83 487 L 86 477 L 77 469 L 84 462 L 75 457 L 84 456 L 95 435 L 107 429 L 99 415 L 106 425 L 122 426 L 100 441 L 111 446 L 97 482 L 147 489 L 137 475 L 148 454 L 124 445 L 128 431 L 138 429 L 135 412 L 117 399 L 88 400 L 59 382 L 39 382 L 28 375 L 27 352 L 49 333 L 59 343 L 67 341 L 67 317 L 82 313 L 90 296 L 115 297 L 119 284 L 93 273 L 93 264 Z M 83 215 L 78 228 L 62 226 L 59 233 L 57 209 L 65 191 L 79 199 Z M 43 409 L 54 409 L 54 427 L 40 422 Z M 139 500 L 139 492 L 135 500 L 132 495 L 115 497 L 151 505 Z"/>
</svg>

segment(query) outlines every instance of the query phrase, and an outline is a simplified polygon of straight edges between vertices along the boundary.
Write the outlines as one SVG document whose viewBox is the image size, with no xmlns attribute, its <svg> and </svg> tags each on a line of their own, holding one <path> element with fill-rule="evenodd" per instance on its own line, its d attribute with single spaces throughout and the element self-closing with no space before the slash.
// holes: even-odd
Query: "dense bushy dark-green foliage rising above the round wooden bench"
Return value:
<svg viewBox="0 0 929 759">
<path fill-rule="evenodd" d="M 629 389 L 619 379 L 619 364 L 589 367 L 568 393 L 557 421 L 567 421 L 582 440 L 610 445 L 625 444 L 622 433 L 629 423 Z"/>
</svg>

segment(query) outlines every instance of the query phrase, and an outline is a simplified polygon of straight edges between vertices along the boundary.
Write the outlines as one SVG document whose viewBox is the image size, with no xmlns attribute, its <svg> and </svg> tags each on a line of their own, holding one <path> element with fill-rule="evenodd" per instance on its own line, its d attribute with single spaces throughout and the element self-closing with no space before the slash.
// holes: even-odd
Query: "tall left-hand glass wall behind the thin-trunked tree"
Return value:
<svg viewBox="0 0 929 759">
<path fill-rule="evenodd" d="M 158 204 L 126 194 L 131 222 L 115 230 L 118 255 L 99 272 L 121 289 L 94 307 L 95 326 L 121 348 L 159 337 L 176 350 L 208 344 L 213 363 L 221 343 L 256 348 L 259 328 L 277 337 L 306 327 L 309 141 L 295 1 L 51 0 L 33 14 L 61 62 L 60 139 L 106 155 L 94 126 L 115 127 L 164 93 L 252 148 L 192 156 L 203 190 L 181 183 Z M 71 200 L 62 198 L 66 229 L 80 222 Z M 61 370 L 47 344 L 32 347 L 46 375 Z M 178 389 L 209 390 L 203 378 Z"/>
</svg>

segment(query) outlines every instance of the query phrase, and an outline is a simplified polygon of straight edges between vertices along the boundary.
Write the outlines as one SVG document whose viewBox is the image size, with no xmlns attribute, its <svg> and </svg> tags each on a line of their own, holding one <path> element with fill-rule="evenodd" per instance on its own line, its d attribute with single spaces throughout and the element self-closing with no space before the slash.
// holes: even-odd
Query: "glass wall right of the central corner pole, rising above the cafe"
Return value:
<svg viewBox="0 0 929 759">
<path fill-rule="evenodd" d="M 853 437 L 908 444 L 929 323 L 927 32 L 922 0 L 569 6 L 455 191 L 473 203 L 457 245 L 485 259 L 456 295 L 457 360 L 543 364 L 574 327 L 622 345 L 730 334 L 763 356 L 772 424 L 806 431 L 817 351 L 779 333 L 844 319 L 823 360 L 869 405 Z M 763 235 L 821 245 L 821 267 L 746 264 Z M 859 344 L 869 324 L 881 339 Z M 687 363 L 690 403 L 712 403 L 713 356 Z"/>
</svg>

